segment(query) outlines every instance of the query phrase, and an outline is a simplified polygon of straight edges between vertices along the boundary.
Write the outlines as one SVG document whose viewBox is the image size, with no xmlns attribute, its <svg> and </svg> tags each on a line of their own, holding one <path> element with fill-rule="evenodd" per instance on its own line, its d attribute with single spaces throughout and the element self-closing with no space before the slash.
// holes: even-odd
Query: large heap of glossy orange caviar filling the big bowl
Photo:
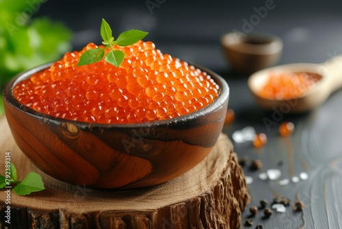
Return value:
<svg viewBox="0 0 342 229">
<path fill-rule="evenodd" d="M 125 55 L 119 67 L 104 60 L 77 67 L 81 54 L 96 47 L 89 43 L 66 53 L 49 69 L 16 84 L 14 97 L 47 115 L 92 123 L 172 119 L 218 97 L 220 88 L 207 73 L 161 53 L 150 41 L 114 45 Z"/>
</svg>

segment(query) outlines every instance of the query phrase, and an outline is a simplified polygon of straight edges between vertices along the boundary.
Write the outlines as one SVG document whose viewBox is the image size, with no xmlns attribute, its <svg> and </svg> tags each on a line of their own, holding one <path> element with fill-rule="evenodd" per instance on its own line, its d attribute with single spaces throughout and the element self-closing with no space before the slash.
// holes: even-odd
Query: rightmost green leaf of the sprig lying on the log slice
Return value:
<svg viewBox="0 0 342 229">
<path fill-rule="evenodd" d="M 27 174 L 26 178 L 15 186 L 13 189 L 14 193 L 18 195 L 28 195 L 35 191 L 44 190 L 44 184 L 42 182 L 42 177 L 35 172 Z"/>
</svg>

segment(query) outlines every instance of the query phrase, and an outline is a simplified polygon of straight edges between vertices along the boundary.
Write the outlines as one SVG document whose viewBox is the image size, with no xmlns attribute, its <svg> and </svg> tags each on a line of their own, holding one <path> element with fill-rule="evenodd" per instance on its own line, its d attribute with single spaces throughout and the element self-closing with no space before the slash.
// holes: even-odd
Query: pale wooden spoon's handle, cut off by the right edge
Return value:
<svg viewBox="0 0 342 229">
<path fill-rule="evenodd" d="M 327 60 L 322 65 L 324 75 L 327 76 L 327 80 L 330 83 L 331 92 L 337 91 L 342 87 L 342 56 L 335 56 L 334 58 Z"/>
</svg>

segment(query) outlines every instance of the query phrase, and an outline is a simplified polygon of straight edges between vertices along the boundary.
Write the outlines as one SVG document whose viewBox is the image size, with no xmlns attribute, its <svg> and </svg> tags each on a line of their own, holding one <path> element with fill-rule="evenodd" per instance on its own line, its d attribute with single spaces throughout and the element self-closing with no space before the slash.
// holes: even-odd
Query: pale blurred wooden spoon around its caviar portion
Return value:
<svg viewBox="0 0 342 229">
<path fill-rule="evenodd" d="M 266 99 L 259 92 L 269 77 L 277 73 L 315 73 L 319 80 L 300 97 L 293 99 Z M 259 106 L 282 113 L 305 112 L 322 104 L 331 93 L 342 87 L 342 56 L 336 56 L 321 64 L 285 64 L 253 73 L 248 78 L 248 88 Z"/>
</svg>

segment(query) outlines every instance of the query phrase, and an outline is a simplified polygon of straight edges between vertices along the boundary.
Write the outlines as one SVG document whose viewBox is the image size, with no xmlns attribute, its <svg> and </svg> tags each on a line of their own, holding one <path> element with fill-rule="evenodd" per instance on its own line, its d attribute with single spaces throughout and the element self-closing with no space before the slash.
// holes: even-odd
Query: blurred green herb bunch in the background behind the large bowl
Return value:
<svg viewBox="0 0 342 229">
<path fill-rule="evenodd" d="M 71 49 L 71 32 L 62 23 L 31 19 L 43 2 L 0 0 L 0 94 L 14 75 L 57 60 Z"/>
</svg>

